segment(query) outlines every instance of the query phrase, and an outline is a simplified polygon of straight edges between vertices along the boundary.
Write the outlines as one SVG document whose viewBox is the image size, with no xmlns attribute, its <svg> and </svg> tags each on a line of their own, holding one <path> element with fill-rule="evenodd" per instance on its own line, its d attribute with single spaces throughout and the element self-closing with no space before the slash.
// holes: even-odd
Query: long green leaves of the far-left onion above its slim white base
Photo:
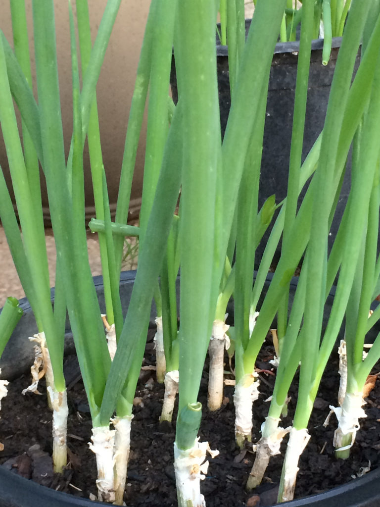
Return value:
<svg viewBox="0 0 380 507">
<path fill-rule="evenodd" d="M 13 66 L 18 70 L 19 81 L 24 80 L 24 83 L 26 83 L 25 86 L 28 87 L 29 83 L 31 83 L 31 77 L 25 6 L 22 3 L 11 3 L 11 7 L 14 37 L 17 40 L 15 54 L 18 61 L 20 61 L 20 66 L 18 66 L 17 61 L 13 60 Z M 3 187 L 3 195 L 5 196 L 6 202 L 3 206 L 2 217 L 4 216 L 4 227 L 11 245 L 11 251 L 14 253 L 16 268 L 18 269 L 20 279 L 25 287 L 25 292 L 27 296 L 30 297 L 39 331 L 45 333 L 48 346 L 51 350 L 50 357 L 54 374 L 54 381 L 52 380 L 51 382 L 51 388 L 61 393 L 61 396 L 63 396 L 62 400 L 64 400 L 63 338 L 65 300 L 61 292 L 63 287 L 58 281 L 59 274 L 57 273 L 57 307 L 53 312 L 50 301 L 50 283 L 42 216 L 39 166 L 36 153 L 31 144 L 31 139 L 26 131 L 25 122 L 22 124 L 26 142 L 25 156 L 21 149 L 11 98 L 12 86 L 10 87 L 8 81 L 7 66 L 9 63 L 7 65 L 7 50 L 5 50 L 5 46 L 2 41 L 0 51 L 2 59 L 1 80 L 3 100 L 0 105 L 2 111 L 0 121 L 2 123 L 3 132 L 7 130 L 5 143 L 12 174 L 13 190 L 15 192 L 21 230 L 23 233 L 22 240 L 14 218 L 14 211 L 10 206 L 10 198 L 9 195 L 7 195 L 8 191 L 5 187 Z M 44 160 L 41 160 L 41 162 L 43 164 Z M 15 249 L 18 247 L 20 247 L 21 250 L 15 253 Z M 21 260 L 26 260 L 26 266 L 20 265 Z M 59 270 L 61 268 L 59 262 L 57 266 Z M 27 277 L 29 277 L 29 279 L 26 279 Z M 67 406 L 64 410 L 67 410 Z M 59 461 L 55 463 L 55 469 L 57 471 L 61 471 L 62 466 L 66 464 L 65 437 L 62 438 L 64 440 L 64 450 L 55 453 L 55 455 L 59 454 L 62 456 L 59 458 Z"/>
</svg>

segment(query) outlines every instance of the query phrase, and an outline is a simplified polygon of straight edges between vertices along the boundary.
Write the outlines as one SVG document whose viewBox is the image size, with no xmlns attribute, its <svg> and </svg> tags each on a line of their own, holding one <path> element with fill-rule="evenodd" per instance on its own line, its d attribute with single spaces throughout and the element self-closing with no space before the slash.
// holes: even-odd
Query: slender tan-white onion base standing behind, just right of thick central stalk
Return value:
<svg viewBox="0 0 380 507">
<path fill-rule="evenodd" d="M 224 320 L 214 320 L 208 347 L 210 369 L 208 380 L 207 406 L 209 410 L 218 410 L 223 401 L 224 346 L 230 347 L 230 339 L 226 335 L 229 325 Z"/>
</svg>

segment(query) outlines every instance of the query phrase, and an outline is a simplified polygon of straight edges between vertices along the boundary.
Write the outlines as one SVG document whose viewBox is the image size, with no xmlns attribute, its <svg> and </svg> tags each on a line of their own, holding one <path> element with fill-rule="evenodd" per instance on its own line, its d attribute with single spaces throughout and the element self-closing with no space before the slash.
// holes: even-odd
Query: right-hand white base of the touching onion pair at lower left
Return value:
<svg viewBox="0 0 380 507">
<path fill-rule="evenodd" d="M 131 444 L 131 421 L 133 415 L 111 419 L 115 427 L 115 503 L 123 505 L 125 481 L 127 478 L 129 451 Z"/>
</svg>

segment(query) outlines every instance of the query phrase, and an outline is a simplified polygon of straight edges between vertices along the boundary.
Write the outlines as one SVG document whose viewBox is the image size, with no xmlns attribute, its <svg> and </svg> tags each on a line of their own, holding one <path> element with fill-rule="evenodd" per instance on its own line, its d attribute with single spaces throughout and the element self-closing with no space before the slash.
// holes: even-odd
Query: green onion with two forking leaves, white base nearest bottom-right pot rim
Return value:
<svg viewBox="0 0 380 507">
<path fill-rule="evenodd" d="M 334 169 L 338 168 L 338 142 L 339 130 L 344 125 L 345 114 L 348 114 L 349 97 L 349 76 L 353 71 L 357 48 L 360 43 L 360 34 L 363 30 L 367 14 L 367 7 L 354 3 L 352 9 L 360 14 L 360 18 L 351 16 L 347 23 L 346 30 L 351 35 L 346 36 L 339 52 L 339 64 L 335 70 L 333 84 L 331 88 L 330 100 L 326 115 L 325 128 L 322 137 L 320 164 L 316 171 L 316 185 L 320 187 L 321 198 L 314 201 L 312 227 L 313 234 L 308 245 L 308 266 L 306 276 L 308 278 L 305 315 L 300 334 L 301 341 L 301 368 L 299 380 L 299 394 L 297 407 L 294 415 L 293 427 L 297 431 L 295 434 L 302 434 L 305 442 L 306 437 L 302 431 L 307 428 L 307 422 L 313 407 L 313 402 L 318 390 L 318 385 L 322 372 L 327 363 L 327 358 L 331 353 L 332 346 L 336 340 L 340 323 L 343 319 L 351 286 L 354 280 L 356 263 L 360 253 L 360 243 L 355 245 L 352 242 L 345 242 L 343 257 L 340 266 L 340 276 L 334 302 L 329 316 L 327 329 L 323 335 L 320 345 L 320 336 L 322 332 L 323 303 L 327 288 L 327 232 L 331 204 L 334 195 L 331 194 L 331 183 L 334 180 Z M 364 11 L 361 11 L 364 9 Z M 376 44 L 376 43 L 375 43 Z M 369 87 L 372 83 L 369 83 Z M 349 117 L 346 116 L 346 121 Z M 374 135 L 374 131 L 368 130 L 369 138 Z M 372 147 L 373 149 L 373 147 Z M 373 153 L 373 150 L 372 152 Z M 362 156 L 364 151 L 361 151 Z M 367 155 L 367 153 L 366 153 Z M 352 190 L 348 203 L 348 236 L 360 234 L 366 221 L 368 213 L 368 202 L 371 193 L 371 185 L 367 185 L 368 180 L 372 182 L 375 168 L 373 157 L 366 158 L 366 162 L 361 160 L 360 176 L 355 171 L 356 164 L 352 169 Z M 326 174 L 326 170 L 329 174 Z M 363 179 L 363 172 L 368 179 Z M 334 188 L 334 187 L 332 187 Z M 359 204 L 360 203 L 360 204 Z M 300 432 L 300 433 L 299 433 Z M 305 437 L 305 438 L 304 438 Z M 302 447 L 298 450 L 301 452 Z M 291 447 L 288 447 L 287 454 L 291 453 Z M 292 455 L 291 461 L 294 463 L 297 458 Z M 292 498 L 296 472 L 292 468 L 292 474 L 288 473 L 286 463 L 290 462 L 285 457 L 285 466 L 283 468 L 282 480 L 280 483 L 279 500 L 289 500 Z"/>
</svg>

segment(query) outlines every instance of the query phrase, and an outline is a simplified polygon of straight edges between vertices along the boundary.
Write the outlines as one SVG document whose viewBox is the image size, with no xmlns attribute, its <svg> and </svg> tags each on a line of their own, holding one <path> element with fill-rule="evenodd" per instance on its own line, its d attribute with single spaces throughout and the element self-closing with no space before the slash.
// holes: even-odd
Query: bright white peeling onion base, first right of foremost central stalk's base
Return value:
<svg viewBox="0 0 380 507">
<path fill-rule="evenodd" d="M 258 398 L 260 381 L 256 372 L 244 375 L 235 386 L 235 439 L 239 447 L 251 440 L 252 404 Z"/>
</svg>

